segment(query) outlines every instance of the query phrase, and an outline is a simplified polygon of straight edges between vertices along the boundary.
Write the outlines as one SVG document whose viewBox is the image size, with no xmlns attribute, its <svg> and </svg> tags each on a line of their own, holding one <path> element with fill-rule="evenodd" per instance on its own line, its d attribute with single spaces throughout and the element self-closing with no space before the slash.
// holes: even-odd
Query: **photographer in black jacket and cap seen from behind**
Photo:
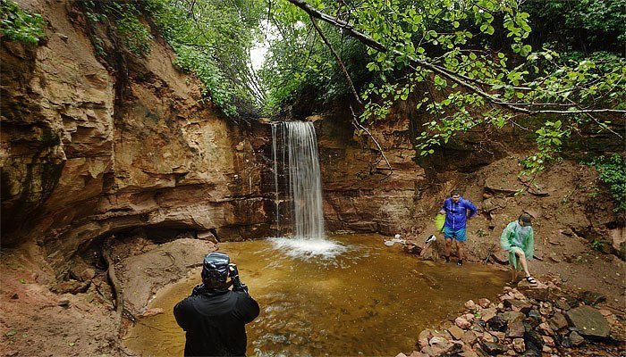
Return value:
<svg viewBox="0 0 626 357">
<path fill-rule="evenodd" d="M 244 356 L 246 324 L 256 319 L 258 312 L 258 303 L 241 283 L 228 254 L 207 254 L 202 284 L 173 308 L 176 322 L 187 333 L 185 356 Z"/>
</svg>

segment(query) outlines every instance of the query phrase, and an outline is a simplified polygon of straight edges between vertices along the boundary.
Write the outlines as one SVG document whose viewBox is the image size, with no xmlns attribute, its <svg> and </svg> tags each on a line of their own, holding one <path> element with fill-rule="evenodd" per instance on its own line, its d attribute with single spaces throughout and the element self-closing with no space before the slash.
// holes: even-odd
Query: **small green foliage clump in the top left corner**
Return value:
<svg viewBox="0 0 626 357">
<path fill-rule="evenodd" d="M 0 37 L 37 46 L 46 37 L 45 21 L 40 14 L 30 14 L 12 0 L 0 0 Z"/>
</svg>

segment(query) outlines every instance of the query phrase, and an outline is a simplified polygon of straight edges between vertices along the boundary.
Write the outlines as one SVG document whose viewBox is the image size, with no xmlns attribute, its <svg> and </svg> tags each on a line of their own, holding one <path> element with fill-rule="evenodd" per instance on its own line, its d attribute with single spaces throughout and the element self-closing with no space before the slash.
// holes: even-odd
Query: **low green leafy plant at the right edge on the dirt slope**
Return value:
<svg viewBox="0 0 626 357">
<path fill-rule="evenodd" d="M 620 154 L 600 156 L 588 165 L 596 167 L 598 179 L 609 188 L 617 205 L 615 211 L 626 211 L 626 157 Z"/>
</svg>

